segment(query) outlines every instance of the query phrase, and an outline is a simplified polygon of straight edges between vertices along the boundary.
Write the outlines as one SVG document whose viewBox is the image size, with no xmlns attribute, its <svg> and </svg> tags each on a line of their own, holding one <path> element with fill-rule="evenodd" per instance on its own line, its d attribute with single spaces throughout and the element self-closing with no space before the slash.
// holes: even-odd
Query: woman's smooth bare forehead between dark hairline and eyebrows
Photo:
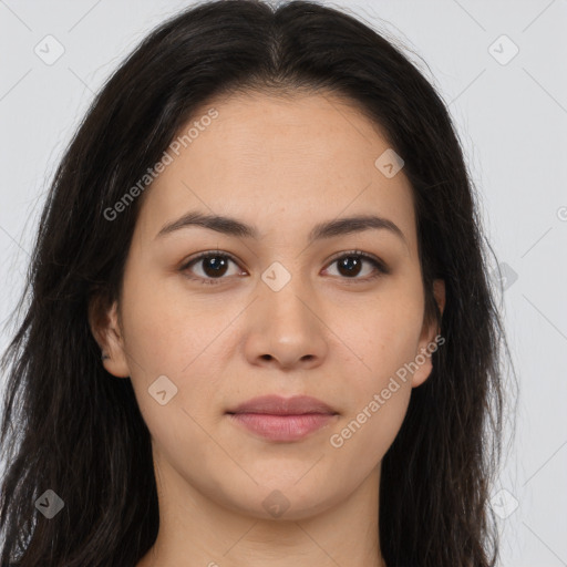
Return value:
<svg viewBox="0 0 567 567">
<path fill-rule="evenodd" d="M 214 117 L 210 117 L 214 116 Z M 171 163 L 146 190 L 141 225 L 153 238 L 184 212 L 224 214 L 259 227 L 310 231 L 319 221 L 375 214 L 415 244 L 411 186 L 375 161 L 380 128 L 332 94 L 239 94 L 203 105 L 179 131 Z"/>
</svg>

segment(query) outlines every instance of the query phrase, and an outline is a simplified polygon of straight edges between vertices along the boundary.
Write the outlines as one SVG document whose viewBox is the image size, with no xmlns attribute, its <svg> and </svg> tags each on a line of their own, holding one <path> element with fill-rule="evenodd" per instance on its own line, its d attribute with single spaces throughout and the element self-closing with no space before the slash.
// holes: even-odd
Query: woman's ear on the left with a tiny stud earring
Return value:
<svg viewBox="0 0 567 567">
<path fill-rule="evenodd" d="M 120 327 L 117 302 L 109 306 L 102 296 L 89 301 L 89 326 L 94 340 L 106 358 L 102 364 L 107 372 L 118 378 L 128 378 L 131 372 L 124 349 L 124 338 Z"/>
</svg>

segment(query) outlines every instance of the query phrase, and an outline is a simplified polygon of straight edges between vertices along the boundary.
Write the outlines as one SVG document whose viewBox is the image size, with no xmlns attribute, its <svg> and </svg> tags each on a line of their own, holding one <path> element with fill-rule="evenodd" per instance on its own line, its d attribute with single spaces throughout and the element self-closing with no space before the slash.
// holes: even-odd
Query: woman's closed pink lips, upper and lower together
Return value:
<svg viewBox="0 0 567 567">
<path fill-rule="evenodd" d="M 316 398 L 255 398 L 227 412 L 247 430 L 270 441 L 298 441 L 323 427 L 338 413 Z"/>
</svg>

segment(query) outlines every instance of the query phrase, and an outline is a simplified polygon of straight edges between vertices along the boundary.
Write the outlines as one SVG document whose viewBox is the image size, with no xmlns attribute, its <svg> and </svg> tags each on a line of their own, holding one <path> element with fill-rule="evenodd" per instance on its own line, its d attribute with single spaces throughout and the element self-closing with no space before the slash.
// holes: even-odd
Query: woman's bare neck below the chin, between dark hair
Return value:
<svg viewBox="0 0 567 567">
<path fill-rule="evenodd" d="M 137 567 L 386 567 L 378 524 L 380 465 L 346 501 L 296 519 L 227 509 L 164 462 L 156 470 L 159 532 Z"/>
</svg>

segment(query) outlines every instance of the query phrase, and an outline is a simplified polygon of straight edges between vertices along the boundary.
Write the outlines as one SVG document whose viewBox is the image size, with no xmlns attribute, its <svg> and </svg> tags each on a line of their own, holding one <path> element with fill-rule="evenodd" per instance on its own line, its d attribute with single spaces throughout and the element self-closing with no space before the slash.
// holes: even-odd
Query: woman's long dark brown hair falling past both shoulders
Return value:
<svg viewBox="0 0 567 567">
<path fill-rule="evenodd" d="M 447 106 L 399 48 L 357 18 L 313 2 L 276 9 L 254 0 L 200 3 L 155 29 L 97 94 L 55 172 L 14 311 L 24 316 L 1 365 L 2 565 L 127 567 L 153 545 L 150 432 L 130 380 L 102 367 L 87 320 L 90 307 L 120 297 L 143 196 L 115 221 L 105 212 L 213 96 L 299 89 L 355 103 L 405 161 L 426 315 L 445 338 L 383 457 L 384 559 L 495 565 L 489 485 L 506 401 L 501 344 L 509 351 Z M 442 317 L 434 278 L 445 280 Z M 52 519 L 34 506 L 47 489 L 64 501 Z"/>
</svg>

